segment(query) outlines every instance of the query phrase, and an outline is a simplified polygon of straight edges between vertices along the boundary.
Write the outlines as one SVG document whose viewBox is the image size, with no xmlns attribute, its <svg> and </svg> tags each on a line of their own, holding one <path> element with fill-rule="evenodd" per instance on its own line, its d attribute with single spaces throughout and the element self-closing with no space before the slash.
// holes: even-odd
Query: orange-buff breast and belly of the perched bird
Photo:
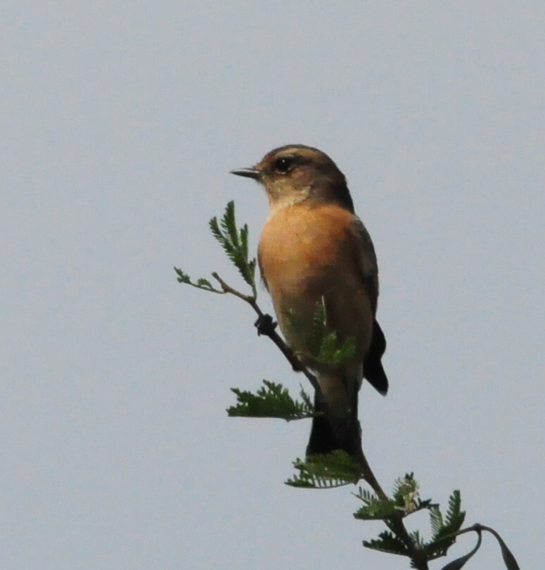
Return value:
<svg viewBox="0 0 545 570">
<path fill-rule="evenodd" d="M 293 348 L 304 350 L 304 336 L 323 297 L 330 328 L 340 338 L 356 338 L 359 358 L 368 350 L 373 314 L 357 267 L 358 241 L 352 227 L 347 210 L 304 203 L 273 211 L 264 225 L 259 267 Z M 297 323 L 295 329 L 291 322 Z"/>
</svg>

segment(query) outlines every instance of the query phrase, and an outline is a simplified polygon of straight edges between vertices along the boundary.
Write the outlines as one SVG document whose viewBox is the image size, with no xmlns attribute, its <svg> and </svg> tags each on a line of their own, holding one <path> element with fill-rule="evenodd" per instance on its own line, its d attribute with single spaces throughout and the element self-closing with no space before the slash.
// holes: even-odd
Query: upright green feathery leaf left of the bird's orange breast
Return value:
<svg viewBox="0 0 545 570">
<path fill-rule="evenodd" d="M 225 213 L 219 222 L 214 216 L 209 225 L 212 235 L 224 248 L 244 281 L 252 288 L 253 296 L 256 297 L 255 258 L 248 257 L 248 225 L 244 224 L 241 229 L 236 227 L 235 203 L 231 200 L 226 205 Z"/>
</svg>

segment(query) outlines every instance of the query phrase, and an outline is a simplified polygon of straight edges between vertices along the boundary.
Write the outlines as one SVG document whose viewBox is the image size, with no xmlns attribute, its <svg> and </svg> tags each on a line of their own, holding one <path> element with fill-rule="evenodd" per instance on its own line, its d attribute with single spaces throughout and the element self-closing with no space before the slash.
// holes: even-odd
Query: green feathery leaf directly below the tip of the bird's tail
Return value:
<svg viewBox="0 0 545 570">
<path fill-rule="evenodd" d="M 286 481 L 292 487 L 331 489 L 361 479 L 361 466 L 347 452 L 335 450 L 327 455 L 309 455 L 306 461 L 293 462 L 298 473 Z"/>
</svg>

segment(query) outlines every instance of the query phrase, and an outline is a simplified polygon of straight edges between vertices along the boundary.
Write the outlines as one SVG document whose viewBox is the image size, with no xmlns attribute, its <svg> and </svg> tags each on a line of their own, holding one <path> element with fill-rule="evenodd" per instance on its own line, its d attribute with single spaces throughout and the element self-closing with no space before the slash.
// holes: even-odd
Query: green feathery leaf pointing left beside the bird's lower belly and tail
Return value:
<svg viewBox="0 0 545 570">
<path fill-rule="evenodd" d="M 276 417 L 286 419 L 305 419 L 316 415 L 310 396 L 301 389 L 302 401 L 294 400 L 287 388 L 268 380 L 257 393 L 231 388 L 236 394 L 237 404 L 227 409 L 232 417 Z"/>
</svg>

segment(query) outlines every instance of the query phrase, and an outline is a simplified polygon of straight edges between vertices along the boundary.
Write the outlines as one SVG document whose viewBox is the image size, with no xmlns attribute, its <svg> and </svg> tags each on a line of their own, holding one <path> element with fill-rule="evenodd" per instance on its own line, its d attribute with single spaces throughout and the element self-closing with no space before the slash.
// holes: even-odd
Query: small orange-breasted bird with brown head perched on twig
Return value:
<svg viewBox="0 0 545 570">
<path fill-rule="evenodd" d="M 326 153 L 302 144 L 274 148 L 255 166 L 231 173 L 264 186 L 269 216 L 257 248 L 262 281 L 286 343 L 319 384 L 307 456 L 342 450 L 364 462 L 359 389 L 366 379 L 386 395 L 386 340 L 376 320 L 375 249 L 354 213 L 345 176 Z M 320 307 L 324 334 L 354 346 L 341 362 L 316 356 Z"/>
</svg>

